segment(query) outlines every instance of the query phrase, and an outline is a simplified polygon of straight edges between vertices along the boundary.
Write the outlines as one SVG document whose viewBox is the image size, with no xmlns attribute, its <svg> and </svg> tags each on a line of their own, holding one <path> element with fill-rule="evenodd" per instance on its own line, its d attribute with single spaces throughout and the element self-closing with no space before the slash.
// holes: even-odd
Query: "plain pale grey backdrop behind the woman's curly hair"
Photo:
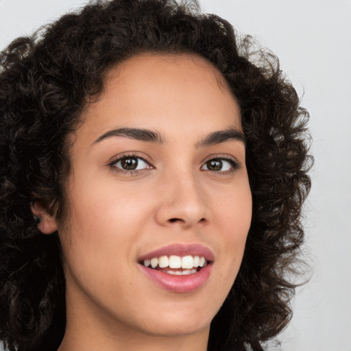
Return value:
<svg viewBox="0 0 351 351">
<path fill-rule="evenodd" d="M 0 48 L 86 1 L 0 0 Z M 310 282 L 278 336 L 283 351 L 351 351 L 351 1 L 200 0 L 252 34 L 311 114 L 313 187 L 305 206 Z"/>
</svg>

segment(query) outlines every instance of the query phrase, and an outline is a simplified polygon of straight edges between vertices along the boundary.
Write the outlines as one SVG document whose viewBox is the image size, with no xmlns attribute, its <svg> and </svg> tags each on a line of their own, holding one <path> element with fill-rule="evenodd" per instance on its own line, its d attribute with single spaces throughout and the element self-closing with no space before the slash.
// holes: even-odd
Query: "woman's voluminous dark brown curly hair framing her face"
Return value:
<svg viewBox="0 0 351 351">
<path fill-rule="evenodd" d="M 66 136 L 104 88 L 104 73 L 137 53 L 197 53 L 228 81 L 241 108 L 253 198 L 237 279 L 210 327 L 208 350 L 263 350 L 291 319 L 304 241 L 301 209 L 308 112 L 278 59 L 242 40 L 197 3 L 95 1 L 0 55 L 0 339 L 9 350 L 56 350 L 64 334 L 64 272 L 57 233 L 43 235 L 34 194 L 62 216 Z"/>
</svg>

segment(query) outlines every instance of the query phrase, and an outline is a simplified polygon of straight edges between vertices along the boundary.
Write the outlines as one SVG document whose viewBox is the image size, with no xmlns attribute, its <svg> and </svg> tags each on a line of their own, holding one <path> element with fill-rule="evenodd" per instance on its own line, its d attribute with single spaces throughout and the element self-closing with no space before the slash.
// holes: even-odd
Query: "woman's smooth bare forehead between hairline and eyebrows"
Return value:
<svg viewBox="0 0 351 351">
<path fill-rule="evenodd" d="M 140 54 L 112 67 L 103 93 L 82 114 L 84 129 L 96 137 L 117 127 L 183 134 L 241 129 L 239 117 L 225 78 L 206 59 L 189 54 Z"/>
</svg>

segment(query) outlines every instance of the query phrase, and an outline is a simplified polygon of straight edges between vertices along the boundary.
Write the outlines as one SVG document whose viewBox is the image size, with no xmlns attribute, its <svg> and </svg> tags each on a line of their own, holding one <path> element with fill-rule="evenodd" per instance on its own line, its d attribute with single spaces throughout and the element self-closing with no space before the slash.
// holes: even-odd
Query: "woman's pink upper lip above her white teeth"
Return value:
<svg viewBox="0 0 351 351">
<path fill-rule="evenodd" d="M 204 256 L 206 261 L 213 261 L 215 259 L 213 252 L 204 245 L 196 244 L 196 243 L 192 243 L 192 244 L 174 243 L 171 245 L 160 247 L 159 249 L 156 249 L 152 252 L 147 252 L 147 254 L 143 254 L 143 256 L 140 256 L 138 258 L 138 261 L 141 262 L 145 260 L 150 260 L 151 258 L 154 258 L 154 257 L 171 256 L 171 255 Z"/>
</svg>

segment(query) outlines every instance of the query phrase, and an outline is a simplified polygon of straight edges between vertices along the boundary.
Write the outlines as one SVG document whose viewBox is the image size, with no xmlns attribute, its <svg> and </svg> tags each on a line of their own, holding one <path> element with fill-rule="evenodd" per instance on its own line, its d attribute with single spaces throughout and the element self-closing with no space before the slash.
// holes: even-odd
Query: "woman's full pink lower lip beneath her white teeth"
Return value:
<svg viewBox="0 0 351 351">
<path fill-rule="evenodd" d="M 212 263 L 209 263 L 199 271 L 193 274 L 185 274 L 184 276 L 175 276 L 167 274 L 163 271 L 145 267 L 138 264 L 140 269 L 162 289 L 173 291 L 175 293 L 189 293 L 195 291 L 208 280 L 212 270 Z"/>
</svg>

